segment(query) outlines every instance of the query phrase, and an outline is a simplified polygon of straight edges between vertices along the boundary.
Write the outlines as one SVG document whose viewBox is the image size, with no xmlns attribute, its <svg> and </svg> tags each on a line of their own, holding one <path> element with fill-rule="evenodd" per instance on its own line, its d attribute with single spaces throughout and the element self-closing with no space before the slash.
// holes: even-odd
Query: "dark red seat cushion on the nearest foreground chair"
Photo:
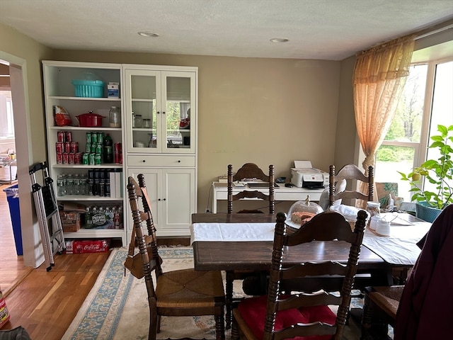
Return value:
<svg viewBox="0 0 453 340">
<path fill-rule="evenodd" d="M 263 339 L 267 301 L 267 295 L 250 297 L 242 300 L 238 306 L 244 321 L 258 339 Z M 327 306 L 305 307 L 300 308 L 299 310 L 293 308 L 292 310 L 282 310 L 277 313 L 274 328 L 278 331 L 297 322 L 308 324 L 310 322 L 321 321 L 326 322 L 327 324 L 335 324 L 335 320 L 336 314 L 334 314 Z M 331 340 L 332 336 L 298 336 L 294 339 Z"/>
</svg>

